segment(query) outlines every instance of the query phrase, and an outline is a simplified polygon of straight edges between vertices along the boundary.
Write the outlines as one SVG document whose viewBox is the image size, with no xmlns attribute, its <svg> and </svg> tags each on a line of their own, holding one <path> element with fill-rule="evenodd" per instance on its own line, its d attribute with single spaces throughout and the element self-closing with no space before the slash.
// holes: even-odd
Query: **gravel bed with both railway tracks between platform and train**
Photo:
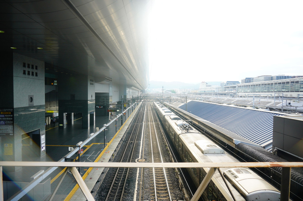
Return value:
<svg viewBox="0 0 303 201">
<path fill-rule="evenodd" d="M 114 160 L 170 162 L 153 105 L 140 107 Z M 109 168 L 102 186 L 96 200 L 185 200 L 173 168 Z"/>
</svg>

